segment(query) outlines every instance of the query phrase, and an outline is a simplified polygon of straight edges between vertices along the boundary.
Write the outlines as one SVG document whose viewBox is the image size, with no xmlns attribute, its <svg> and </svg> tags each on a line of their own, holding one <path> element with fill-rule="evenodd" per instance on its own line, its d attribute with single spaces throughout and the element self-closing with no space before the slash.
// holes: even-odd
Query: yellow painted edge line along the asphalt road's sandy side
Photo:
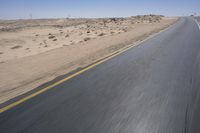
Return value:
<svg viewBox="0 0 200 133">
<path fill-rule="evenodd" d="M 174 25 L 174 24 L 173 24 L 173 25 Z M 69 79 L 71 79 L 71 78 L 73 78 L 73 77 L 76 77 L 76 76 L 78 76 L 78 75 L 80 75 L 80 74 L 82 74 L 82 73 L 88 71 L 89 69 L 91 69 L 91 68 L 93 68 L 93 67 L 95 67 L 95 66 L 97 66 L 97 65 L 99 65 L 99 64 L 102 64 L 103 62 L 106 62 L 106 61 L 108 61 L 108 60 L 114 58 L 115 56 L 117 56 L 117 55 L 119 55 L 119 54 L 121 54 L 121 53 L 124 53 L 125 51 L 127 51 L 127 50 L 129 50 L 129 49 L 131 49 L 131 48 L 133 48 L 133 47 L 135 47 L 135 46 L 138 46 L 139 44 L 141 44 L 141 43 L 143 43 L 143 42 L 145 42 L 145 41 L 147 41 L 147 40 L 149 40 L 149 39 L 151 39 L 151 38 L 157 36 L 158 34 L 160 34 L 160 33 L 164 32 L 164 31 L 168 30 L 168 29 L 171 28 L 173 25 L 171 25 L 171 26 L 169 26 L 168 28 L 165 28 L 164 30 L 161 30 L 161 31 L 159 31 L 159 32 L 157 32 L 157 33 L 154 33 L 153 35 L 150 35 L 149 37 L 147 37 L 146 39 L 144 39 L 144 40 L 142 40 L 142 41 L 140 41 L 140 42 L 133 43 L 132 45 L 126 46 L 126 47 L 124 47 L 124 48 L 122 48 L 122 49 L 120 49 L 120 50 L 118 50 L 118 51 L 115 51 L 115 52 L 109 54 L 108 56 L 106 56 L 106 57 L 104 57 L 104 58 L 98 60 L 96 63 L 94 63 L 94 64 L 92 64 L 92 65 L 90 65 L 90 66 L 88 66 L 88 67 L 86 67 L 86 68 L 84 68 L 84 69 L 82 69 L 82 70 L 80 70 L 80 71 L 78 71 L 78 72 L 76 72 L 76 73 L 74 73 L 74 74 L 72 74 L 72 75 L 70 75 L 70 76 L 64 78 L 64 79 L 61 79 L 61 80 L 59 80 L 59 81 L 57 81 L 57 82 L 55 82 L 55 83 L 53 83 L 53 84 L 51 84 L 51 85 L 48 85 L 47 87 L 44 87 L 44 88 L 42 88 L 42 89 L 36 91 L 36 92 L 33 93 L 33 94 L 30 94 L 30 95 L 28 95 L 28 96 L 26 96 L 26 97 L 24 97 L 24 98 L 21 98 L 21 99 L 15 101 L 15 102 L 13 102 L 13 103 L 11 103 L 11 104 L 5 106 L 5 107 L 2 107 L 2 108 L 0 109 L 0 113 L 3 113 L 3 112 L 5 112 L 5 111 L 7 111 L 7 110 L 9 110 L 9 109 L 12 109 L 13 107 L 15 107 L 15 106 L 17 106 L 17 105 L 19 105 L 19 104 L 21 104 L 21 103 L 23 103 L 23 102 L 25 102 L 25 101 L 27 101 L 27 100 L 33 98 L 33 97 L 35 97 L 35 96 L 37 96 L 37 95 L 39 95 L 39 94 L 41 94 L 41 93 L 43 93 L 43 92 L 45 92 L 45 91 L 47 91 L 47 90 L 49 90 L 49 89 L 51 89 L 51 88 L 53 88 L 53 87 L 55 87 L 55 86 L 61 84 L 61 83 L 65 82 L 65 81 L 67 81 L 67 80 L 69 80 Z"/>
</svg>

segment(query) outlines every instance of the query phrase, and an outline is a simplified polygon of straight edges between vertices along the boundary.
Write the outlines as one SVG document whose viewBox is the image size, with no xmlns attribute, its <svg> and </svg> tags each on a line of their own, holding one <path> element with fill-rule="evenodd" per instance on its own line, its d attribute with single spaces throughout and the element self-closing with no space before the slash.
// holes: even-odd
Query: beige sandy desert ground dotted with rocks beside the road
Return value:
<svg viewBox="0 0 200 133">
<path fill-rule="evenodd" d="M 133 44 L 177 18 L 0 21 L 0 103 Z"/>
</svg>

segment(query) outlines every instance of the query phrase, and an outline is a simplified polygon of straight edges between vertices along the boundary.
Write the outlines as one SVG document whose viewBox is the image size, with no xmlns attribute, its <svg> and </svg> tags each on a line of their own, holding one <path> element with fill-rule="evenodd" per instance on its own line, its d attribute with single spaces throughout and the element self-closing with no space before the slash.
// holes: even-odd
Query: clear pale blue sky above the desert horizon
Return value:
<svg viewBox="0 0 200 133">
<path fill-rule="evenodd" d="M 0 19 L 189 15 L 200 0 L 0 0 Z"/>
</svg>

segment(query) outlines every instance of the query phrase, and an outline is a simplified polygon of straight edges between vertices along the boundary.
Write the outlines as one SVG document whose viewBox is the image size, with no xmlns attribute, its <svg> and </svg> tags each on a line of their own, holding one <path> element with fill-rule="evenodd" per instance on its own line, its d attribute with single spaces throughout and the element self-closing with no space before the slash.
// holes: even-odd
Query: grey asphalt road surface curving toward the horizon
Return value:
<svg viewBox="0 0 200 133">
<path fill-rule="evenodd" d="M 0 114 L 0 133 L 200 133 L 200 30 L 167 31 Z"/>
</svg>

